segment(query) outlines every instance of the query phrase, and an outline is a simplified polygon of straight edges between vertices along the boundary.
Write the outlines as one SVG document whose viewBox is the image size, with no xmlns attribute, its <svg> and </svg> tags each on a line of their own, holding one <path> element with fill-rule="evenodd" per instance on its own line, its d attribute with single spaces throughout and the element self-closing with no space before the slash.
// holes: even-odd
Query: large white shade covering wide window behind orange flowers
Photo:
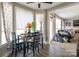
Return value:
<svg viewBox="0 0 79 59">
<path fill-rule="evenodd" d="M 25 26 L 27 23 L 32 23 L 33 22 L 33 12 L 20 8 L 20 7 L 15 7 L 16 11 L 16 34 L 20 35 L 21 33 L 25 32 Z"/>
</svg>

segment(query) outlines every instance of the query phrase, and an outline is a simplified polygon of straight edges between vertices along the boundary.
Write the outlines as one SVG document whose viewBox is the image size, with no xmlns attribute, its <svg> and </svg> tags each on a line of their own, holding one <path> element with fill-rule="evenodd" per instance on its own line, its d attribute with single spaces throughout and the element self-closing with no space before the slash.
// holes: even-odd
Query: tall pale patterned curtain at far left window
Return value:
<svg viewBox="0 0 79 59">
<path fill-rule="evenodd" d="M 2 4 L 2 14 L 1 14 L 1 22 L 2 22 L 2 44 L 10 42 L 11 40 L 11 32 L 12 32 L 12 4 L 8 2 L 4 2 Z"/>
</svg>

